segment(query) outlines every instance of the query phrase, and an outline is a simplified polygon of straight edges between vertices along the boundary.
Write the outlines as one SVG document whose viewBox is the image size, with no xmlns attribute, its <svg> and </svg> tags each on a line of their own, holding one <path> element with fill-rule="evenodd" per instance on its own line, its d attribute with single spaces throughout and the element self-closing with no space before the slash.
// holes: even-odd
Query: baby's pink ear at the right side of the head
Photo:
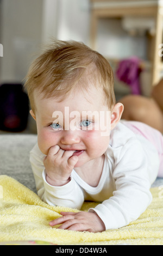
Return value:
<svg viewBox="0 0 163 256">
<path fill-rule="evenodd" d="M 111 130 L 115 128 L 121 119 L 124 106 L 122 103 L 117 103 L 111 111 Z"/>
</svg>

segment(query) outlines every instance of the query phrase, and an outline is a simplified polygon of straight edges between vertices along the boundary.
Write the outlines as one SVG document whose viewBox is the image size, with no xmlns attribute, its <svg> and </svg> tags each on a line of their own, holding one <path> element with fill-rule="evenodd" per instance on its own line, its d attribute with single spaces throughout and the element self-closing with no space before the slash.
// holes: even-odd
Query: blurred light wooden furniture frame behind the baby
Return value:
<svg viewBox="0 0 163 256">
<path fill-rule="evenodd" d="M 152 85 L 160 80 L 163 70 L 161 53 L 163 1 L 162 0 L 90 0 L 91 1 L 91 47 L 96 50 L 99 19 L 123 17 L 152 17 L 155 21 L 154 35 L 148 35 L 148 61 L 152 66 Z M 159 48 L 160 47 L 160 48 Z M 162 50 L 163 53 L 163 50 Z"/>
</svg>

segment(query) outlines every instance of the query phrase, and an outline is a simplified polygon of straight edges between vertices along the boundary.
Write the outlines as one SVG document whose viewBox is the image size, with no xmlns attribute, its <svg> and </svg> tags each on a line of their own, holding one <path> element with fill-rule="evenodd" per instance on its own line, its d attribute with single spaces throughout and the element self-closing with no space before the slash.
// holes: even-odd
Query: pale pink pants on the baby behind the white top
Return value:
<svg viewBox="0 0 163 256">
<path fill-rule="evenodd" d="M 122 124 L 127 126 L 135 134 L 142 135 L 151 142 L 159 154 L 160 167 L 158 177 L 163 178 L 163 136 L 161 132 L 155 130 L 151 126 L 137 121 L 122 121 Z"/>
</svg>

